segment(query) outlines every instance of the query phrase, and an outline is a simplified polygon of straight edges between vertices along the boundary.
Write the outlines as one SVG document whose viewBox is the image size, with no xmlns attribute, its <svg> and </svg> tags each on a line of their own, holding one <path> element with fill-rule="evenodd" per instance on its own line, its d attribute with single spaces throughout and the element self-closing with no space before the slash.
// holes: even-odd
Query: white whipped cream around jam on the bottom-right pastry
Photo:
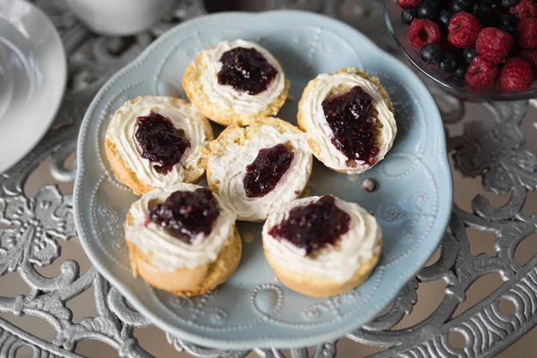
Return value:
<svg viewBox="0 0 537 358">
<path fill-rule="evenodd" d="M 319 200 L 319 196 L 294 200 L 292 203 L 272 211 L 263 226 L 263 245 L 278 265 L 298 275 L 328 277 L 336 282 L 345 282 L 354 276 L 362 263 L 371 260 L 380 250 L 382 238 L 375 217 L 358 204 L 336 198 L 336 206 L 350 217 L 349 231 L 342 234 L 335 247 L 321 249 L 315 257 L 306 256 L 306 250 L 294 246 L 286 239 L 276 239 L 268 234 L 272 227 L 289 217 L 293 208 Z"/>
</svg>

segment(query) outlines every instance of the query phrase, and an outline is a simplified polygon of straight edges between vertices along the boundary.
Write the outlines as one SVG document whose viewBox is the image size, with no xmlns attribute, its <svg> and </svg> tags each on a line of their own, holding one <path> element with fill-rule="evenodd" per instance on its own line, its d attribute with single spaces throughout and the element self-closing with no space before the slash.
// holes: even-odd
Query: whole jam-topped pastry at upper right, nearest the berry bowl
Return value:
<svg viewBox="0 0 537 358">
<path fill-rule="evenodd" d="M 354 68 L 310 81 L 298 105 L 298 124 L 308 132 L 313 154 L 345 174 L 363 173 L 382 160 L 397 132 L 384 87 Z"/>
</svg>

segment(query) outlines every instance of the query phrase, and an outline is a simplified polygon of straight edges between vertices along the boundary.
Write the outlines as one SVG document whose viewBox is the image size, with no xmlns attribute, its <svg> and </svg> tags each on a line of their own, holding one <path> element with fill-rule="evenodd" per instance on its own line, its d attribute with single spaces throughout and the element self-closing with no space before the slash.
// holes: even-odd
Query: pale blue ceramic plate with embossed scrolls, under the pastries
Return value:
<svg viewBox="0 0 537 358">
<path fill-rule="evenodd" d="M 254 234 L 243 244 L 234 277 L 217 292 L 192 299 L 167 294 L 132 277 L 124 243 L 124 217 L 137 197 L 118 183 L 107 163 L 110 116 L 127 98 L 184 97 L 183 72 L 201 49 L 244 38 L 267 47 L 291 80 L 290 100 L 279 117 L 296 123 L 306 83 L 321 72 L 354 66 L 379 76 L 396 107 L 397 133 L 388 156 L 362 177 L 379 189 L 316 162 L 311 195 L 334 194 L 372 210 L 384 234 L 379 266 L 358 289 L 328 299 L 296 294 L 279 283 L 263 255 L 261 225 L 239 224 Z M 158 38 L 98 92 L 78 141 L 74 208 L 90 260 L 132 306 L 158 327 L 217 348 L 303 346 L 335 339 L 372 320 L 429 259 L 447 226 L 453 188 L 444 131 L 429 91 L 404 64 L 360 32 L 315 13 L 218 13 L 187 21 Z"/>
</svg>

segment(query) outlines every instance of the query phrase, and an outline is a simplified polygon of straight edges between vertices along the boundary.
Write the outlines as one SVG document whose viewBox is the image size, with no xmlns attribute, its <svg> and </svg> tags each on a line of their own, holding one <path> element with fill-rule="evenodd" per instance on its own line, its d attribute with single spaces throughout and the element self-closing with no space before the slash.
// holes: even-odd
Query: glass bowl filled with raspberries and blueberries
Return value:
<svg viewBox="0 0 537 358">
<path fill-rule="evenodd" d="M 537 97 L 536 0 L 386 0 L 410 62 L 468 99 Z"/>
</svg>

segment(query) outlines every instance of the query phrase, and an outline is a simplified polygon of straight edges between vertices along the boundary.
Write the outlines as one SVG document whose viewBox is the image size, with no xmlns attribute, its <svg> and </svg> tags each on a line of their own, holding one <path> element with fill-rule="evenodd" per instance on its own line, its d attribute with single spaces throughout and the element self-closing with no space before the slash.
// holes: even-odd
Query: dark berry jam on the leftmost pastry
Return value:
<svg viewBox="0 0 537 358">
<path fill-rule="evenodd" d="M 136 120 L 138 129 L 135 137 L 141 147 L 141 158 L 149 159 L 159 173 L 166 174 L 179 163 L 184 151 L 190 148 L 190 142 L 182 131 L 158 113 Z"/>
</svg>

